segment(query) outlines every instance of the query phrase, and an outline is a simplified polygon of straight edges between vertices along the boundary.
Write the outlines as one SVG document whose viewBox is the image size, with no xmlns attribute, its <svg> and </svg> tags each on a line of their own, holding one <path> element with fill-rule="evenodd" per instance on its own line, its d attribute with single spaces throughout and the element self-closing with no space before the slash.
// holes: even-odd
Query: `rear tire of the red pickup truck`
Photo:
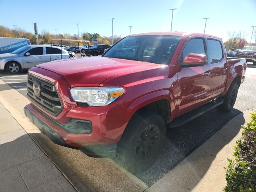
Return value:
<svg viewBox="0 0 256 192">
<path fill-rule="evenodd" d="M 224 112 L 230 112 L 236 102 L 237 93 L 238 84 L 236 82 L 233 82 L 228 89 L 228 92 L 224 96 L 222 96 L 224 102 L 221 105 L 217 106 L 217 109 Z"/>
</svg>

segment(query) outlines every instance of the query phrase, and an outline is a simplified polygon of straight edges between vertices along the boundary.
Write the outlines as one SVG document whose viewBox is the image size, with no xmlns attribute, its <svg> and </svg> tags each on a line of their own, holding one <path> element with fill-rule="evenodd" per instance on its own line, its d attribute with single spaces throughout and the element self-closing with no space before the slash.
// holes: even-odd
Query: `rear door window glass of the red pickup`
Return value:
<svg viewBox="0 0 256 192">
<path fill-rule="evenodd" d="M 223 58 L 221 44 L 217 40 L 208 39 L 210 62 L 219 62 Z"/>
</svg>

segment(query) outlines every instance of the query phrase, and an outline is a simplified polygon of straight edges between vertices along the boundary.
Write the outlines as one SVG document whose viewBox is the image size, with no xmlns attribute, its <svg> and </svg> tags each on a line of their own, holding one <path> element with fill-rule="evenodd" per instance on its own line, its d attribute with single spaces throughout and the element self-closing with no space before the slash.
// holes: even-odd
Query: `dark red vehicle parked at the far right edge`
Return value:
<svg viewBox="0 0 256 192">
<path fill-rule="evenodd" d="M 244 46 L 236 52 L 235 57 L 245 58 L 246 62 L 253 62 L 256 65 L 256 46 Z"/>
</svg>

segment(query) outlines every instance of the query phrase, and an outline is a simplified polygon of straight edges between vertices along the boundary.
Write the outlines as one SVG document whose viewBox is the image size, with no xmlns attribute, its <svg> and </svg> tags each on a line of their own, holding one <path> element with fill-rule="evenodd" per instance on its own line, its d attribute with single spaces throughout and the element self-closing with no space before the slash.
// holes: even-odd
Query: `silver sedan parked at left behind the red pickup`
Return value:
<svg viewBox="0 0 256 192">
<path fill-rule="evenodd" d="M 0 54 L 0 70 L 16 74 L 38 64 L 69 58 L 70 54 L 59 47 L 49 45 L 28 45 L 11 53 Z"/>
</svg>

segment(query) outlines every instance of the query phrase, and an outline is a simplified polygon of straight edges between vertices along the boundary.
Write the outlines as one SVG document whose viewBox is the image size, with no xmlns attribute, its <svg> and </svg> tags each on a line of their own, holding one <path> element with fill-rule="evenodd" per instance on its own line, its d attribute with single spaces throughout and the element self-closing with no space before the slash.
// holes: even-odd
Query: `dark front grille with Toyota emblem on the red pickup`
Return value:
<svg viewBox="0 0 256 192">
<path fill-rule="evenodd" d="M 27 96 L 39 107 L 57 116 L 62 111 L 62 103 L 53 83 L 28 74 Z"/>
</svg>

